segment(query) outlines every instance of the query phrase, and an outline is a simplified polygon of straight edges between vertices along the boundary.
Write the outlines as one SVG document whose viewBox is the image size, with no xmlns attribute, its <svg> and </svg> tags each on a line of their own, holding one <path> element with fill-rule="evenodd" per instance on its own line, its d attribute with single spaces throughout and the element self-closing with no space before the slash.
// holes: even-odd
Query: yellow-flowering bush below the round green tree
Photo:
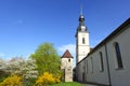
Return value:
<svg viewBox="0 0 130 86">
<path fill-rule="evenodd" d="M 49 72 L 44 72 L 42 75 L 38 77 L 36 81 L 36 85 L 38 86 L 46 86 L 46 85 L 52 85 L 54 83 L 60 83 L 61 76 L 54 76 L 53 74 Z"/>
</svg>

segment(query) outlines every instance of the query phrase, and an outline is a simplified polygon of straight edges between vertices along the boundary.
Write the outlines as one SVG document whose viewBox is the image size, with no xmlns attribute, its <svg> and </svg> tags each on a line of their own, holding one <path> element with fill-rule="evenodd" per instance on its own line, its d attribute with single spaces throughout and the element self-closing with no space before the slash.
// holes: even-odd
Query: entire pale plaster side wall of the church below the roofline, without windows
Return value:
<svg viewBox="0 0 130 86">
<path fill-rule="evenodd" d="M 110 39 L 106 44 L 99 47 L 94 53 L 92 53 L 84 60 L 78 63 L 78 80 L 80 82 L 82 81 L 82 72 L 83 72 L 82 64 L 87 62 L 86 66 L 88 67 L 88 69 L 87 67 L 84 69 L 86 82 L 109 85 L 108 69 L 107 69 L 107 63 L 108 63 L 112 86 L 130 86 L 130 62 L 129 62 L 130 61 L 130 25 L 126 28 L 128 29 L 113 37 L 113 39 Z M 116 55 L 114 48 L 115 42 L 119 43 L 119 47 L 121 52 L 123 69 L 120 70 L 117 70 Z M 107 55 L 106 55 L 105 46 L 107 49 Z M 103 72 L 100 71 L 99 52 L 103 53 L 103 63 L 104 63 Z M 91 66 L 91 57 L 93 59 L 93 69 Z M 106 58 L 108 60 L 106 60 Z"/>
</svg>

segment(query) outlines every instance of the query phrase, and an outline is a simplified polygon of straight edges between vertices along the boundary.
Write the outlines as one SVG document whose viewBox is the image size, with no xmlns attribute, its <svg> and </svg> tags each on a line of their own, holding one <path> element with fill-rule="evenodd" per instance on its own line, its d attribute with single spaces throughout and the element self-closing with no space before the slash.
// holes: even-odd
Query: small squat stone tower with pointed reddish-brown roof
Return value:
<svg viewBox="0 0 130 86">
<path fill-rule="evenodd" d="M 63 81 L 73 82 L 74 57 L 67 49 L 61 57 L 61 70 L 63 71 Z"/>
</svg>

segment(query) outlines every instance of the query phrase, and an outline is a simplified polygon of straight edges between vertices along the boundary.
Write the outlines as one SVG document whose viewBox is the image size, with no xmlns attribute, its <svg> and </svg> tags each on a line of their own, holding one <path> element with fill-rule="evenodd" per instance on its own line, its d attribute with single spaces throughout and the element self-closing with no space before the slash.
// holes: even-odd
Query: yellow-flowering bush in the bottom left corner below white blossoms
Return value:
<svg viewBox="0 0 130 86">
<path fill-rule="evenodd" d="M 0 86 L 23 86 L 22 77 L 17 75 L 11 75 L 3 80 L 3 82 L 0 83 Z"/>
</svg>

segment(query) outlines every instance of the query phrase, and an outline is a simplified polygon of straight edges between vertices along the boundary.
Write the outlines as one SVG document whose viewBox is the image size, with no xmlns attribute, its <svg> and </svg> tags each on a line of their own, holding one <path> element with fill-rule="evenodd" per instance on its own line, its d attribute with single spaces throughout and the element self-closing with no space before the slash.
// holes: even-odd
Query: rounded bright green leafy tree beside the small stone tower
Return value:
<svg viewBox="0 0 130 86">
<path fill-rule="evenodd" d="M 49 72 L 52 74 L 60 74 L 60 56 L 57 55 L 53 44 L 43 43 L 38 46 L 35 54 L 30 58 L 36 60 L 39 73 Z"/>
</svg>

